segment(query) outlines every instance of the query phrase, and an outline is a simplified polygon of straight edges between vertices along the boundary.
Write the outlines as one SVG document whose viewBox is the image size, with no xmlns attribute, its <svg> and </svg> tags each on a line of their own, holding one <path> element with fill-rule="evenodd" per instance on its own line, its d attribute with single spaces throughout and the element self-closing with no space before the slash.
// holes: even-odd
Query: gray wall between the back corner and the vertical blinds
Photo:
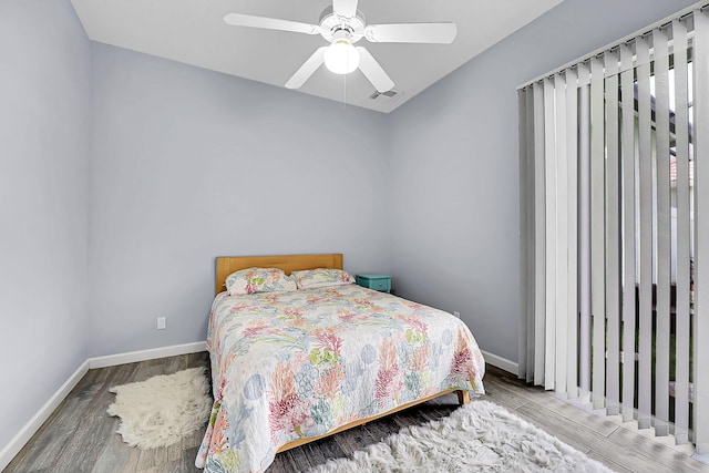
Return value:
<svg viewBox="0 0 709 473">
<path fill-rule="evenodd" d="M 516 361 L 515 90 L 692 3 L 566 0 L 393 112 L 399 294 L 461 311 L 483 350 Z"/>
</svg>

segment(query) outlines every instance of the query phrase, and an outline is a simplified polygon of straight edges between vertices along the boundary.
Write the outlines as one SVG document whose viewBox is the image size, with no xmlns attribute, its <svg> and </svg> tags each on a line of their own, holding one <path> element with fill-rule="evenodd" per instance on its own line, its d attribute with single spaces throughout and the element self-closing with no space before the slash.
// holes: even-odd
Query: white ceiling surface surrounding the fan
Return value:
<svg viewBox="0 0 709 473">
<path fill-rule="evenodd" d="M 371 99 L 374 88 L 354 71 L 325 66 L 294 93 L 307 93 L 391 112 L 504 37 L 563 0 L 360 0 L 370 23 L 454 21 L 452 44 L 364 45 L 394 82 L 393 97 Z M 230 12 L 317 24 L 328 0 L 72 0 L 89 38 L 186 64 L 284 88 L 319 47 L 319 34 L 227 25 Z"/>
</svg>

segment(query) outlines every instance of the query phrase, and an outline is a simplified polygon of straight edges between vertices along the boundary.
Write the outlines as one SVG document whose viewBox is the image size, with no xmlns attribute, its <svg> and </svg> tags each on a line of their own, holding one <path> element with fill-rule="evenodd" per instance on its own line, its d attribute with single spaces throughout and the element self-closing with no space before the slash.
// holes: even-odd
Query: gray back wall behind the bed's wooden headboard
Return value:
<svg viewBox="0 0 709 473">
<path fill-rule="evenodd" d="M 92 60 L 90 356 L 204 340 L 215 256 L 389 270 L 387 115 L 102 44 Z"/>
</svg>

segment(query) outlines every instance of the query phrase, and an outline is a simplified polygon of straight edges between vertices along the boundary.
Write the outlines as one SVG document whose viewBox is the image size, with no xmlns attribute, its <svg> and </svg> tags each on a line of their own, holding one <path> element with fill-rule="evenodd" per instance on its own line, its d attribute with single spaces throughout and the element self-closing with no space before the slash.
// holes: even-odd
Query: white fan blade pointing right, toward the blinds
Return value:
<svg viewBox="0 0 709 473">
<path fill-rule="evenodd" d="M 456 34 L 455 23 L 370 24 L 364 29 L 364 38 L 374 43 L 450 44 Z"/>
</svg>

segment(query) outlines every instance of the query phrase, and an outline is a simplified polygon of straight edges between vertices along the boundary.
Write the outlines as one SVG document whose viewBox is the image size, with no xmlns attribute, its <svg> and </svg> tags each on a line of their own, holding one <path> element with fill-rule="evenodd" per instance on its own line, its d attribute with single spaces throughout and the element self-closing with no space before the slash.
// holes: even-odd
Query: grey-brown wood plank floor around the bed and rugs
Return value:
<svg viewBox="0 0 709 473">
<path fill-rule="evenodd" d="M 115 433 L 119 419 L 106 414 L 114 395 L 109 388 L 208 367 L 206 352 L 90 370 L 56 411 L 4 470 L 7 473 L 183 473 L 199 472 L 194 460 L 204 430 L 166 449 L 141 451 Z M 688 456 L 687 449 L 660 444 L 627 424 L 576 409 L 540 388 L 521 384 L 494 367 L 484 379 L 493 401 L 618 472 L 709 472 L 709 465 Z M 473 401 L 474 402 L 474 401 Z M 267 473 L 307 471 L 331 457 L 351 455 L 404 425 L 449 415 L 455 394 L 429 401 L 367 425 L 338 433 L 276 456 Z"/>
</svg>

